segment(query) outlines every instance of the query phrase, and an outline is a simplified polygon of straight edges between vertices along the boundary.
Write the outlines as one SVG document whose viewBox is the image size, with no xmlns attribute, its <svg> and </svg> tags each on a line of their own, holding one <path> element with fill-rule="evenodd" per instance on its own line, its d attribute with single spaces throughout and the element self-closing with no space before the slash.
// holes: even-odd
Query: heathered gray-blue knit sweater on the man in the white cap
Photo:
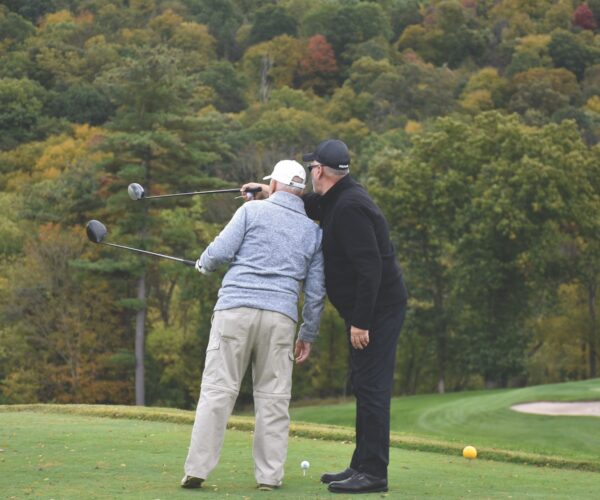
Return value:
<svg viewBox="0 0 600 500">
<path fill-rule="evenodd" d="M 325 300 L 321 237 L 298 196 L 278 191 L 266 200 L 244 203 L 200 256 L 209 272 L 230 264 L 215 311 L 252 307 L 298 321 L 304 283 L 304 323 L 298 337 L 314 342 Z"/>
</svg>

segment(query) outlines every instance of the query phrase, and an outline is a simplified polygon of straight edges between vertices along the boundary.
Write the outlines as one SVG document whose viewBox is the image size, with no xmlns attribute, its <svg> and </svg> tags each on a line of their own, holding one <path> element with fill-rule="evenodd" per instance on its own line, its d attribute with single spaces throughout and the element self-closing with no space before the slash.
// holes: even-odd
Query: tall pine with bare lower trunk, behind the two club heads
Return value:
<svg viewBox="0 0 600 500">
<path fill-rule="evenodd" d="M 141 181 L 148 192 L 190 190 L 190 186 L 207 182 L 211 164 L 227 158 L 229 148 L 221 137 L 211 135 L 207 115 L 188 114 L 197 85 L 195 75 L 186 74 L 181 52 L 161 48 L 138 51 L 127 64 L 103 75 L 101 83 L 118 108 L 111 124 L 113 132 L 102 144 L 103 150 L 112 154 L 104 165 L 112 176 L 107 220 L 115 223 L 117 232 L 135 234 L 134 246 L 152 245 L 162 253 L 186 253 L 187 247 L 174 244 L 172 248 L 164 241 L 164 248 L 160 247 L 163 224 L 150 217 L 148 204 L 131 207 L 122 193 L 134 181 Z M 189 241 L 189 245 L 194 243 Z M 156 262 L 143 261 L 140 266 L 138 261 L 129 268 L 130 277 L 137 280 L 136 300 L 131 303 L 136 310 L 137 404 L 145 403 L 148 276 L 152 274 L 150 268 L 160 272 L 157 266 Z"/>
</svg>

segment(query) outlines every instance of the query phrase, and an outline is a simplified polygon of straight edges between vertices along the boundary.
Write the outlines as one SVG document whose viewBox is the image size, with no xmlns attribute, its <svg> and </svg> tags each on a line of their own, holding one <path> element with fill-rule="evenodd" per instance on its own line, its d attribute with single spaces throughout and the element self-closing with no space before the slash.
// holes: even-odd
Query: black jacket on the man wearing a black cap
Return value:
<svg viewBox="0 0 600 500">
<path fill-rule="evenodd" d="M 327 295 L 347 323 L 368 330 L 374 314 L 406 302 L 387 222 L 358 182 L 346 175 L 304 206 L 323 228 Z"/>
</svg>

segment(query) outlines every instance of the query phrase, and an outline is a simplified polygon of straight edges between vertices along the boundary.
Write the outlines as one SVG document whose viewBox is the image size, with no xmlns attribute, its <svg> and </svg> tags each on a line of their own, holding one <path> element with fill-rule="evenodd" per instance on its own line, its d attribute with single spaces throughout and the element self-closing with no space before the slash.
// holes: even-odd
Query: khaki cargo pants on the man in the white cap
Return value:
<svg viewBox="0 0 600 500">
<path fill-rule="evenodd" d="M 254 474 L 279 485 L 287 457 L 296 323 L 262 309 L 215 311 L 185 473 L 206 479 L 217 466 L 227 420 L 252 362 Z"/>
</svg>

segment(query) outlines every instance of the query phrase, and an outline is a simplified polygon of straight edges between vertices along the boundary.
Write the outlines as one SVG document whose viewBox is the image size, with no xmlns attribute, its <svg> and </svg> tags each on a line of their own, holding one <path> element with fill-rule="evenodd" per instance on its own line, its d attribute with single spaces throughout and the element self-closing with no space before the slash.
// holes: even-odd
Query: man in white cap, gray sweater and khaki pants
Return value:
<svg viewBox="0 0 600 500">
<path fill-rule="evenodd" d="M 206 362 L 184 488 L 199 488 L 216 467 L 227 420 L 252 363 L 256 424 L 255 477 L 263 490 L 283 480 L 293 361 L 302 363 L 318 335 L 325 299 L 322 232 L 300 196 L 306 172 L 293 160 L 277 163 L 267 200 L 242 205 L 196 263 L 202 273 L 229 264 L 206 350 Z M 303 324 L 294 347 L 304 284 Z"/>
</svg>

